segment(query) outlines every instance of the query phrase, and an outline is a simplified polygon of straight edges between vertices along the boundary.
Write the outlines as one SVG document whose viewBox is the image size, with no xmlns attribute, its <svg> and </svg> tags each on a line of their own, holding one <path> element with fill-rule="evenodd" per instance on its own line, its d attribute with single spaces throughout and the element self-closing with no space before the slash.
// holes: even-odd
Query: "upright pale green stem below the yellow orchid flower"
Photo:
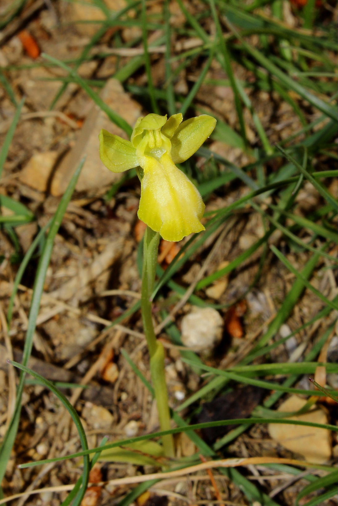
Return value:
<svg viewBox="0 0 338 506">
<path fill-rule="evenodd" d="M 143 246 L 143 271 L 142 271 L 142 294 L 141 312 L 145 338 L 150 355 L 150 369 L 155 390 L 157 409 L 159 412 L 161 431 L 171 429 L 168 390 L 165 378 L 164 348 L 156 339 L 153 318 L 151 295 L 154 289 L 157 255 L 160 235 L 147 227 L 144 235 Z M 167 457 L 175 456 L 174 440 L 172 434 L 162 437 L 163 448 Z"/>
</svg>

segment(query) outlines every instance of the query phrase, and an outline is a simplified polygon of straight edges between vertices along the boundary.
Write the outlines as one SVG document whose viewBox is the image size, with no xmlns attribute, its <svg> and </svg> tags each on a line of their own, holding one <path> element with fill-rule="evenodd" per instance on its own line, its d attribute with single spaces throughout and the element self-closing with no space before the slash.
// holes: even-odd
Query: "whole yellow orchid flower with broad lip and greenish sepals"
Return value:
<svg viewBox="0 0 338 506">
<path fill-rule="evenodd" d="M 203 114 L 182 122 L 182 114 L 138 118 L 130 141 L 101 130 L 100 158 L 112 172 L 140 166 L 138 217 L 167 241 L 205 230 L 205 205 L 197 188 L 175 165 L 192 156 L 209 137 L 216 120 Z"/>
</svg>

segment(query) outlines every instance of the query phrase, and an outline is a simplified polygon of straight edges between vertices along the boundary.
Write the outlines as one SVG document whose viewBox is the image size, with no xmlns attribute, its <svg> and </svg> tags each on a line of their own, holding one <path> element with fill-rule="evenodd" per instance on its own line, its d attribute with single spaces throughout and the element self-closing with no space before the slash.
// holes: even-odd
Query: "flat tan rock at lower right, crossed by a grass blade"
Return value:
<svg viewBox="0 0 338 506">
<path fill-rule="evenodd" d="M 306 402 L 305 399 L 291 395 L 279 406 L 278 411 L 298 411 Z M 313 406 L 308 413 L 290 416 L 288 419 L 311 421 L 316 424 L 328 423 L 326 412 L 320 406 Z M 284 448 L 302 455 L 308 462 L 324 464 L 331 457 L 331 435 L 326 429 L 284 424 L 269 424 L 268 429 L 272 439 Z"/>
</svg>

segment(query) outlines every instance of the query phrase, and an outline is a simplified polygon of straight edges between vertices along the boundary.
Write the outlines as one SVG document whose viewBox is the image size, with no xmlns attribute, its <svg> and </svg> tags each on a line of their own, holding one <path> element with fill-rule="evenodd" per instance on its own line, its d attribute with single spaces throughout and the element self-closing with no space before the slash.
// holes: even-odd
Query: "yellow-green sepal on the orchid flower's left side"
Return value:
<svg viewBox="0 0 338 506">
<path fill-rule="evenodd" d="M 111 172 L 125 172 L 138 166 L 136 149 L 130 141 L 101 130 L 100 158 Z"/>
</svg>

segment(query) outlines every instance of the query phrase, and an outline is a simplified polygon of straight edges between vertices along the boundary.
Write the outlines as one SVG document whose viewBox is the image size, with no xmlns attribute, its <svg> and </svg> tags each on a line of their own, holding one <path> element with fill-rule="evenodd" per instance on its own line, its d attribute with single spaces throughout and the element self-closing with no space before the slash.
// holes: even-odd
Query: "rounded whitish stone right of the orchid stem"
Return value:
<svg viewBox="0 0 338 506">
<path fill-rule="evenodd" d="M 196 308 L 183 316 L 182 343 L 198 352 L 210 352 L 223 335 L 223 319 L 213 308 Z"/>
</svg>

